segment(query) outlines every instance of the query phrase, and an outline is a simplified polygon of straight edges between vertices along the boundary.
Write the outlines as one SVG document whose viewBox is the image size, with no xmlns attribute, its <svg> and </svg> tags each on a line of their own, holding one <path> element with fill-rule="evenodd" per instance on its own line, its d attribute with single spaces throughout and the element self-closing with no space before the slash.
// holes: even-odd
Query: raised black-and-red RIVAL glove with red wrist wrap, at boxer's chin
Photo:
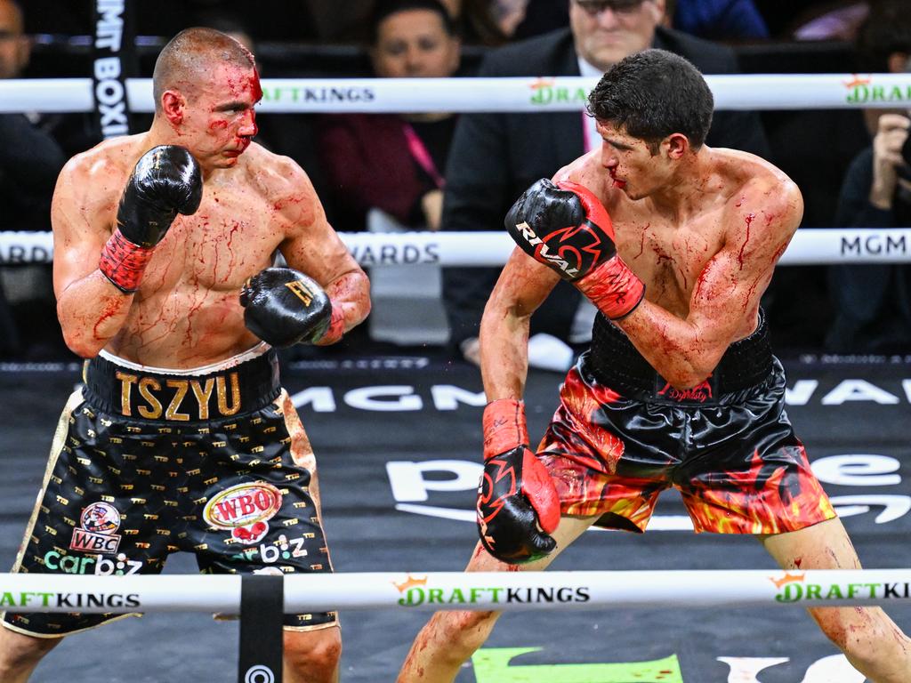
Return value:
<svg viewBox="0 0 911 683">
<path fill-rule="evenodd" d="M 522 250 L 611 320 L 629 315 L 645 297 L 642 280 L 617 254 L 607 209 L 578 183 L 541 178 L 509 209 L 506 228 Z"/>
</svg>

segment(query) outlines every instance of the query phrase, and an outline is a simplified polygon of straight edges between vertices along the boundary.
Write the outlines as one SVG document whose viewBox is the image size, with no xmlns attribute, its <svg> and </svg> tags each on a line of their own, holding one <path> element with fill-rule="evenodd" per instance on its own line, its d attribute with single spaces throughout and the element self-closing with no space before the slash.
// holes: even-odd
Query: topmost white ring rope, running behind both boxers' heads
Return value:
<svg viewBox="0 0 911 683">
<path fill-rule="evenodd" d="M 911 103 L 911 74 L 705 76 L 717 109 L 839 109 Z M 597 78 L 266 78 L 262 112 L 580 111 Z M 130 78 L 131 111 L 154 110 L 150 78 Z M 105 97 L 101 97 L 102 101 Z M 0 81 L 0 113 L 94 111 L 91 78 Z"/>
</svg>

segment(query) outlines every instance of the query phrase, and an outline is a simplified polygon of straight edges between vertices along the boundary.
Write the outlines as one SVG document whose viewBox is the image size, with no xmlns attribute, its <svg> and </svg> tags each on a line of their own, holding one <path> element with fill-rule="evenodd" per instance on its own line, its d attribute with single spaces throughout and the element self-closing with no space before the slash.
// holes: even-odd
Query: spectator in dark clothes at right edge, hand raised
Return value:
<svg viewBox="0 0 911 683">
<path fill-rule="evenodd" d="M 865 71 L 911 71 L 911 15 L 906 0 L 873 5 L 857 40 Z M 911 118 L 907 110 L 877 110 L 873 144 L 848 168 L 836 225 L 911 227 Z M 829 267 L 834 321 L 826 351 L 911 352 L 911 266 Z"/>
</svg>

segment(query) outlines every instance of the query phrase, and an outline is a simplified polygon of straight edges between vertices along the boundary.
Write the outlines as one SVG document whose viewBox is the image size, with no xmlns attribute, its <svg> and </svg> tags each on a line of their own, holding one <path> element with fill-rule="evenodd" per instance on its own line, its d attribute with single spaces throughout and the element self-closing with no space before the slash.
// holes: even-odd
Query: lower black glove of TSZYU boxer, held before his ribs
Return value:
<svg viewBox="0 0 911 683">
<path fill-rule="evenodd" d="M 316 280 L 291 268 L 267 268 L 247 280 L 241 306 L 247 329 L 272 346 L 329 343 L 344 321 Z"/>
</svg>

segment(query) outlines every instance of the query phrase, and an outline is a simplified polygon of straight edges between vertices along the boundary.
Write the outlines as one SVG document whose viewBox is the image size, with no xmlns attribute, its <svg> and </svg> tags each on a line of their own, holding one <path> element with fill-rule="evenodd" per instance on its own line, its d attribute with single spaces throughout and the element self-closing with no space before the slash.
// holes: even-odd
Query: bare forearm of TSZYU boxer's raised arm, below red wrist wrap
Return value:
<svg viewBox="0 0 911 683">
<path fill-rule="evenodd" d="M 57 318 L 69 349 L 97 355 L 123 327 L 133 295 L 119 291 L 99 271 L 70 284 L 57 297 Z"/>
</svg>

